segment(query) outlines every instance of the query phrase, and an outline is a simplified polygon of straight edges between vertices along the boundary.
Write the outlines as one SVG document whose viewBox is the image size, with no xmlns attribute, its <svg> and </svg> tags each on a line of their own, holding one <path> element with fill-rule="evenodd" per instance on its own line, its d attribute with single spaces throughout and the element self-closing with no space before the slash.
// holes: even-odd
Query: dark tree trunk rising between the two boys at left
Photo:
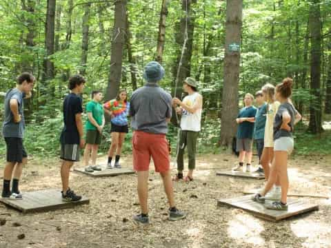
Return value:
<svg viewBox="0 0 331 248">
<path fill-rule="evenodd" d="M 49 56 L 54 54 L 54 36 L 55 36 L 55 8 L 56 0 L 47 1 L 47 14 L 46 14 L 46 58 L 43 61 L 43 82 L 54 78 L 54 63 L 50 61 Z"/>
</svg>

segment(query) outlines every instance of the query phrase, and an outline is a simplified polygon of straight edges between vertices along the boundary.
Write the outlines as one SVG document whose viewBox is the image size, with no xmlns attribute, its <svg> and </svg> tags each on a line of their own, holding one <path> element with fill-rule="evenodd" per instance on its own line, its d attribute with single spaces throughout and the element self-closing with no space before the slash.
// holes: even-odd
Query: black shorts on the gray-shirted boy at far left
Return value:
<svg viewBox="0 0 331 248">
<path fill-rule="evenodd" d="M 7 162 L 22 163 L 22 159 L 28 157 L 22 138 L 5 137 L 5 141 L 7 145 Z"/>
</svg>

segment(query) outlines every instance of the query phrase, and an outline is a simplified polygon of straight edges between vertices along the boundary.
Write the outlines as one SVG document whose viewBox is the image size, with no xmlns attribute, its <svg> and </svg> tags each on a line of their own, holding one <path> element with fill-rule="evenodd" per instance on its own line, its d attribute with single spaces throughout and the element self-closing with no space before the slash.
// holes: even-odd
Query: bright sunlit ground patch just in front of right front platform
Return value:
<svg viewBox="0 0 331 248">
<path fill-rule="evenodd" d="M 237 212 L 237 211 L 236 211 Z M 264 239 L 260 236 L 264 230 L 260 220 L 248 214 L 236 214 L 228 223 L 228 235 L 235 240 L 240 239 L 252 245 L 263 245 Z"/>
</svg>

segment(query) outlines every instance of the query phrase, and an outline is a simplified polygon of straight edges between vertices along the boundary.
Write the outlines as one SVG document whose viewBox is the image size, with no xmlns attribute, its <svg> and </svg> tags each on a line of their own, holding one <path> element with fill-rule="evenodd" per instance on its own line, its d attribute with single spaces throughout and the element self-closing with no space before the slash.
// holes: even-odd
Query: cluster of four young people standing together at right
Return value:
<svg viewBox="0 0 331 248">
<path fill-rule="evenodd" d="M 252 105 L 254 96 L 245 94 L 245 107 L 237 118 L 237 152 L 239 164 L 234 171 L 243 169 L 245 157 L 247 159 L 246 172 L 250 172 L 252 161 L 252 143 L 257 144 L 259 168 L 256 172 L 264 174 L 266 184 L 259 193 L 252 196 L 252 200 L 265 203 L 268 209 L 286 210 L 288 194 L 288 155 L 294 148 L 292 132 L 294 125 L 301 120 L 301 115 L 294 108 L 292 96 L 293 81 L 283 79 L 276 87 L 267 83 L 256 94 L 258 105 Z"/>
</svg>

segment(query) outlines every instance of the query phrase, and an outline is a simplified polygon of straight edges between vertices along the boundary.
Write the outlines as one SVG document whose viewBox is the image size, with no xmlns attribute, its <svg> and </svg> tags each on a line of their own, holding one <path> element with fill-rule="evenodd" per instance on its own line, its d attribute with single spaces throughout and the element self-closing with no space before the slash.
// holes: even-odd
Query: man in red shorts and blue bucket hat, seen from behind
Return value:
<svg viewBox="0 0 331 248">
<path fill-rule="evenodd" d="M 152 61 L 144 69 L 143 77 L 148 83 L 133 92 L 130 101 L 130 116 L 132 116 L 132 153 L 133 167 L 138 175 L 138 195 L 141 214 L 133 220 L 139 224 L 148 224 L 148 170 L 150 158 L 153 158 L 155 171 L 161 174 L 165 194 L 168 197 L 170 209 L 169 220 L 180 220 L 186 214 L 179 211 L 174 204 L 174 191 L 170 175 L 170 156 L 168 132 L 172 108 L 171 96 L 157 82 L 164 76 L 163 67 Z"/>
</svg>

